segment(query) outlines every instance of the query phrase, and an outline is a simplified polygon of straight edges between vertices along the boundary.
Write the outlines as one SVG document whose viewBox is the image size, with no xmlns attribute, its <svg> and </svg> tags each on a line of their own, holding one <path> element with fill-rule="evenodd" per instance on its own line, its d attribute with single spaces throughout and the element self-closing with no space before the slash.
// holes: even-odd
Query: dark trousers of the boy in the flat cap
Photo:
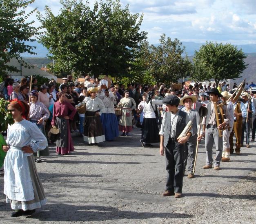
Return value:
<svg viewBox="0 0 256 224">
<path fill-rule="evenodd" d="M 184 144 L 180 145 L 174 139 L 169 139 L 165 147 L 167 170 L 166 190 L 182 193 L 183 185 L 183 153 Z"/>
</svg>

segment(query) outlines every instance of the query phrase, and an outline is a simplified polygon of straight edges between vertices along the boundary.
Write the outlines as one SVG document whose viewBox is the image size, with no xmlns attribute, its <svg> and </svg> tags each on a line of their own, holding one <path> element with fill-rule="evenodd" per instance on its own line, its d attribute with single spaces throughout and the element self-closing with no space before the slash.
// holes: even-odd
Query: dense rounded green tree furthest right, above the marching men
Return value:
<svg viewBox="0 0 256 224">
<path fill-rule="evenodd" d="M 247 56 L 242 49 L 230 43 L 206 42 L 195 51 L 194 72 L 191 78 L 200 77 L 200 81 L 213 78 L 216 86 L 220 80 L 240 78 L 240 74 L 247 68 L 244 59 Z"/>
</svg>

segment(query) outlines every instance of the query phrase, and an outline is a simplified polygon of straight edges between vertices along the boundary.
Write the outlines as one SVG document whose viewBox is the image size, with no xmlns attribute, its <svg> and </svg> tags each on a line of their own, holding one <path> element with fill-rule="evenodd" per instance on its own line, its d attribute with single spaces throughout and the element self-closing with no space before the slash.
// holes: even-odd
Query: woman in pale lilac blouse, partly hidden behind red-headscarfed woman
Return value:
<svg viewBox="0 0 256 224">
<path fill-rule="evenodd" d="M 36 92 L 31 92 L 30 93 L 30 98 L 31 98 L 31 104 L 29 108 L 29 120 L 32 123 L 35 123 L 36 126 L 42 131 L 42 133 L 45 135 L 45 126 L 44 122 L 49 118 L 50 113 L 48 109 L 46 108 L 45 104 L 42 102 L 38 102 L 38 94 Z M 37 151 L 37 153 L 34 154 L 36 158 L 36 162 L 40 163 L 42 162 L 42 158 L 49 156 L 49 148 L 48 145 L 44 150 Z"/>
</svg>

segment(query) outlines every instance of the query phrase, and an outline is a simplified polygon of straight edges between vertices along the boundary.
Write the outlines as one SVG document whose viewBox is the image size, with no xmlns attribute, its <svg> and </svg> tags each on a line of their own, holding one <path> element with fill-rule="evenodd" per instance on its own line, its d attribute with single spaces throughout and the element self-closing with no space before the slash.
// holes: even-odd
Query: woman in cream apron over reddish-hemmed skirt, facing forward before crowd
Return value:
<svg viewBox="0 0 256 224">
<path fill-rule="evenodd" d="M 129 132 L 132 131 L 131 111 L 136 108 L 136 102 L 133 98 L 129 97 L 129 91 L 125 91 L 124 96 L 125 97 L 122 98 L 118 104 L 118 107 L 122 108 L 119 130 L 122 131 L 121 136 L 129 136 Z"/>
</svg>

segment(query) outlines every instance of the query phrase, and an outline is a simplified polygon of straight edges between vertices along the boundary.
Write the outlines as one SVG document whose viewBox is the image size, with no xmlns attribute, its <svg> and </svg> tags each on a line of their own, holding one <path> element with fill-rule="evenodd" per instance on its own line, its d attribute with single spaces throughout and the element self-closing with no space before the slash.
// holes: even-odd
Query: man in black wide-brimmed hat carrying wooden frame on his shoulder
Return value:
<svg viewBox="0 0 256 224">
<path fill-rule="evenodd" d="M 223 123 L 217 126 L 216 122 L 216 115 L 214 110 L 214 102 L 216 105 L 220 104 L 221 102 L 218 101 L 218 97 L 222 97 L 219 93 L 218 89 L 212 88 L 210 91 L 206 92 L 209 95 L 211 102 L 206 105 L 208 110 L 207 116 L 203 118 L 203 135 L 205 135 L 205 150 L 206 150 L 206 165 L 203 166 L 203 169 L 212 168 L 214 162 L 214 170 L 220 170 L 220 161 L 222 158 L 222 151 L 223 151 L 223 138 L 219 137 L 218 129 L 223 129 L 223 127 L 229 124 L 230 115 L 227 110 L 227 106 L 223 105 L 223 113 L 224 121 Z M 216 147 L 216 157 L 213 160 L 212 157 L 212 148 L 215 143 Z"/>
</svg>

